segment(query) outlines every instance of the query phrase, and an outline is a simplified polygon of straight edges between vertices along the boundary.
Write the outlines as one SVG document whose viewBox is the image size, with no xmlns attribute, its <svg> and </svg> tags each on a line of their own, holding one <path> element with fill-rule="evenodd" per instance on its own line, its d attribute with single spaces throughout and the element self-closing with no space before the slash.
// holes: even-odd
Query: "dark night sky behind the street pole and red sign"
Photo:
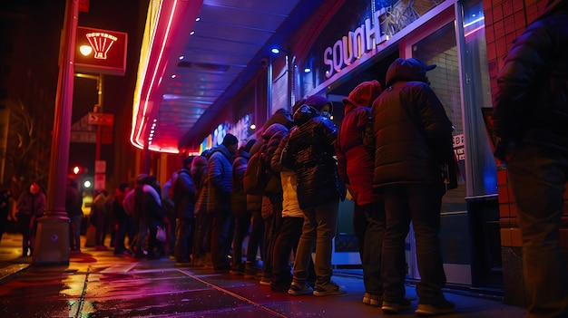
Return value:
<svg viewBox="0 0 568 318">
<path fill-rule="evenodd" d="M 20 49 L 14 59 L 8 81 L 17 82 L 22 76 L 33 76 L 34 82 L 50 102 L 47 107 L 54 109 L 57 89 L 58 53 L 60 34 L 64 24 L 66 1 L 4 1 L 0 4 L 0 16 L 15 17 L 17 32 L 24 34 L 16 38 Z M 80 26 L 89 26 L 128 34 L 127 69 L 124 76 L 103 75 L 104 112 L 114 114 L 113 144 L 103 145 L 102 159 L 107 161 L 107 188 L 113 190 L 120 182 L 128 181 L 133 171 L 132 160 L 135 149 L 129 136 L 132 118 L 132 98 L 136 82 L 136 68 L 140 54 L 142 30 L 145 23 L 148 0 L 91 0 L 88 13 L 79 14 Z M 9 26 L 9 25 L 8 25 Z M 6 27 L 6 25 L 3 25 Z M 5 58 L 5 56 L 2 56 Z M 93 74 L 96 75 L 96 74 Z M 11 90 L 25 90 L 22 87 Z M 25 92 L 21 92 L 25 93 Z M 12 95 L 12 93 L 10 93 Z M 51 102 L 53 101 L 53 102 Z M 75 78 L 73 90 L 72 124 L 93 111 L 97 102 L 96 81 Z M 33 106 L 30 106 L 33 107 Z M 33 110 L 32 110 L 33 112 Z M 47 125 L 53 127 L 53 123 Z M 93 172 L 95 146 L 93 143 L 72 143 L 69 165 L 83 165 Z M 47 164 L 47 162 L 45 163 Z"/>
</svg>

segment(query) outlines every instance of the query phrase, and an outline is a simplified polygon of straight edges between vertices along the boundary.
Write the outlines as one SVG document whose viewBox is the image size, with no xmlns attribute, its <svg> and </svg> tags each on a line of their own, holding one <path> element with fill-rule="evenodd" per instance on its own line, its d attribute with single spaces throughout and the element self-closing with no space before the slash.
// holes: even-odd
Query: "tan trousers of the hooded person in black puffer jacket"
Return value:
<svg viewBox="0 0 568 318">
<path fill-rule="evenodd" d="M 336 199 L 326 205 L 304 210 L 304 225 L 294 260 L 294 282 L 305 284 L 308 279 L 311 249 L 315 243 L 316 285 L 328 284 L 333 275 L 331 253 L 338 226 L 338 209 L 339 201 Z"/>
</svg>

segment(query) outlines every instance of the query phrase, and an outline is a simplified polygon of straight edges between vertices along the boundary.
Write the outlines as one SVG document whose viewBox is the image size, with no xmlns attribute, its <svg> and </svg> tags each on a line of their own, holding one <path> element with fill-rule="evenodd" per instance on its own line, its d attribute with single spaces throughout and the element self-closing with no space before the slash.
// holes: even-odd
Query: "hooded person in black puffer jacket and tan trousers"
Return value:
<svg viewBox="0 0 568 318">
<path fill-rule="evenodd" d="M 299 207 L 304 226 L 294 261 L 294 277 L 289 294 L 325 296 L 343 289 L 331 281 L 332 240 L 338 224 L 339 199 L 346 189 L 338 178 L 334 143 L 338 130 L 328 116 L 332 103 L 322 96 L 310 96 L 294 113 L 297 128 L 289 133 L 282 149 L 282 166 L 296 172 Z M 306 284 L 311 247 L 316 242 L 316 283 Z"/>
</svg>

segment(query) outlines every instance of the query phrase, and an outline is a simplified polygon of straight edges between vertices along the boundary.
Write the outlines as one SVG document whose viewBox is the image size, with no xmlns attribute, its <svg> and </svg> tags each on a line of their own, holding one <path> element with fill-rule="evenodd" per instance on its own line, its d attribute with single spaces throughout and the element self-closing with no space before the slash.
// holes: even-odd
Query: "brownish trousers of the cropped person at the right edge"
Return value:
<svg viewBox="0 0 568 318">
<path fill-rule="evenodd" d="M 559 240 L 568 148 L 519 145 L 509 153 L 507 177 L 523 235 L 529 317 L 568 317 L 568 272 Z"/>
</svg>

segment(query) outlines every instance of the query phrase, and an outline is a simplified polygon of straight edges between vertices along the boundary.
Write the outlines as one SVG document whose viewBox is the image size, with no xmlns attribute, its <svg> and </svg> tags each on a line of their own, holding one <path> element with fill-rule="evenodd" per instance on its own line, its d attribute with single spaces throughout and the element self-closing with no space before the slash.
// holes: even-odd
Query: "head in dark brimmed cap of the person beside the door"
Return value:
<svg viewBox="0 0 568 318">
<path fill-rule="evenodd" d="M 387 86 L 398 81 L 426 82 L 429 84 L 426 72 L 432 71 L 435 68 L 436 64 L 427 65 L 415 58 L 409 58 L 406 60 L 398 58 L 395 62 L 388 66 Z"/>
</svg>

